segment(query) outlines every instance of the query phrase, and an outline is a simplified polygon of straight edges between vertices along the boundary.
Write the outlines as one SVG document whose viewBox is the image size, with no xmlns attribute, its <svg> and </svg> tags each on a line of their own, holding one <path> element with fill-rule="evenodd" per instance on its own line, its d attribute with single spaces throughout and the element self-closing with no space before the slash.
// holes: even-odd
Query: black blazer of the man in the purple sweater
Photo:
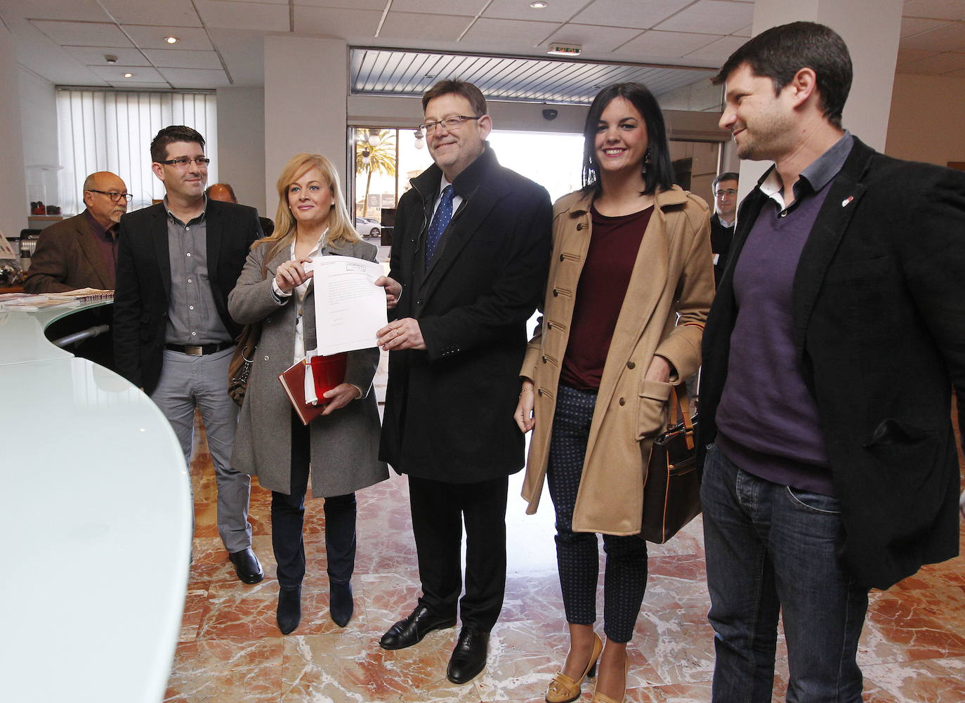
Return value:
<svg viewBox="0 0 965 703">
<path fill-rule="evenodd" d="M 701 464 L 727 381 L 733 270 L 766 200 L 758 182 L 740 206 L 703 332 Z M 801 254 L 792 313 L 841 500 L 841 562 L 866 586 L 958 554 L 950 387 L 965 389 L 963 301 L 965 174 L 855 140 Z"/>
</svg>

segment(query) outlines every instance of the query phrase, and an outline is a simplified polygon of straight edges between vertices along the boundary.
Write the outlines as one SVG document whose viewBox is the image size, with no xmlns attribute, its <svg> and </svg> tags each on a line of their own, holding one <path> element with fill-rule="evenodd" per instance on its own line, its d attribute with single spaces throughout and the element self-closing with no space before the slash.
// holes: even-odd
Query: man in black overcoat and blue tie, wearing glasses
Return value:
<svg viewBox="0 0 965 703">
<path fill-rule="evenodd" d="M 379 643 L 400 649 L 452 627 L 458 601 L 447 675 L 461 684 L 483 670 L 503 606 L 508 476 L 524 463 L 512 413 L 552 208 L 543 188 L 496 161 L 476 86 L 437 83 L 423 109 L 435 164 L 401 197 L 391 271 L 376 282 L 395 308 L 378 331 L 392 352 L 380 458 L 409 476 L 423 594 Z"/>
</svg>

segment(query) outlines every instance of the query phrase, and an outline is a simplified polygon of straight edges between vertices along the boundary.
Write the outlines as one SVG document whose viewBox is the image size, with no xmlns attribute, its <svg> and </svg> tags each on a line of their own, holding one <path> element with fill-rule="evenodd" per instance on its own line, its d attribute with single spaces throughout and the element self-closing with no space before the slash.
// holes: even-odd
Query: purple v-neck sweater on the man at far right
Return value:
<svg viewBox="0 0 965 703">
<path fill-rule="evenodd" d="M 794 273 L 853 140 L 845 133 L 804 171 L 784 210 L 764 203 L 733 273 L 737 319 L 717 409 L 717 446 L 769 481 L 834 496 L 817 404 L 794 347 Z"/>
</svg>

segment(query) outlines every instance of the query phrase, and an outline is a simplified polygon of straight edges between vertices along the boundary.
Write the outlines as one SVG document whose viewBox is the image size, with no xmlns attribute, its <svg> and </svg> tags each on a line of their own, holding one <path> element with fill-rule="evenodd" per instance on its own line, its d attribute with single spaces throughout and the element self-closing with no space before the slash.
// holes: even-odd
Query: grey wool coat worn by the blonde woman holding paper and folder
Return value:
<svg viewBox="0 0 965 703">
<path fill-rule="evenodd" d="M 232 464 L 258 476 L 262 487 L 291 493 L 291 404 L 278 375 L 294 356 L 297 300 L 282 305 L 271 294 L 277 267 L 289 260 L 285 247 L 268 261 L 262 280 L 262 258 L 269 243 L 256 245 L 248 254 L 237 285 L 228 296 L 228 311 L 240 324 L 262 323 L 248 391 L 238 416 Z M 329 244 L 325 256 L 375 260 L 377 249 L 368 242 Z M 315 289 L 309 284 L 303 310 L 305 346 L 316 346 Z M 374 338 L 375 331 L 372 330 Z M 312 438 L 312 495 L 343 496 L 388 478 L 378 460 L 378 408 L 372 377 L 378 365 L 378 348 L 348 352 L 345 381 L 362 389 L 363 396 L 329 416 L 309 424 Z"/>
</svg>

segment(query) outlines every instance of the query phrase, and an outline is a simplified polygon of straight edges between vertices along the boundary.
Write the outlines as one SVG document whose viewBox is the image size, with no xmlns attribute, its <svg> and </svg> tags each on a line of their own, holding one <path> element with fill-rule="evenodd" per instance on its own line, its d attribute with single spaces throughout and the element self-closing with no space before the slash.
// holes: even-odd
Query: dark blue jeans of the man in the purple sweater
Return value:
<svg viewBox="0 0 965 703">
<path fill-rule="evenodd" d="M 837 499 L 771 483 L 717 447 L 703 467 L 714 703 L 770 703 L 783 613 L 788 703 L 861 703 L 868 590 L 841 570 Z"/>
</svg>

